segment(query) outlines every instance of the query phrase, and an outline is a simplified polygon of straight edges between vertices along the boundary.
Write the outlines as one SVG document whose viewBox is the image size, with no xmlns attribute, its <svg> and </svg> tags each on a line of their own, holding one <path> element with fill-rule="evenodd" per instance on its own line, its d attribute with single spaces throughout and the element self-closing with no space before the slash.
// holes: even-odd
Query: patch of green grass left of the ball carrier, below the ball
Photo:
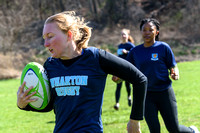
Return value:
<svg viewBox="0 0 200 133">
<path fill-rule="evenodd" d="M 54 114 L 22 111 L 17 107 L 19 79 L 0 81 L 0 133 L 51 133 Z"/>
</svg>

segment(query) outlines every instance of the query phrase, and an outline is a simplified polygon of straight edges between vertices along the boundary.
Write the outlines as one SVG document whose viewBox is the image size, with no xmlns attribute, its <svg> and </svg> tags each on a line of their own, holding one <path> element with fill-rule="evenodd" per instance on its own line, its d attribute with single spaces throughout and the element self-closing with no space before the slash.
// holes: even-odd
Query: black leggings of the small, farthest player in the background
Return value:
<svg viewBox="0 0 200 133">
<path fill-rule="evenodd" d="M 122 88 L 122 83 L 123 82 L 117 84 L 117 89 L 115 91 L 115 101 L 116 101 L 116 103 L 118 103 L 119 99 L 120 99 L 120 92 L 121 92 L 121 88 Z M 130 86 L 130 83 L 125 81 L 125 85 L 126 85 L 126 91 L 128 93 L 128 96 L 130 96 L 131 95 L 131 86 Z"/>
</svg>

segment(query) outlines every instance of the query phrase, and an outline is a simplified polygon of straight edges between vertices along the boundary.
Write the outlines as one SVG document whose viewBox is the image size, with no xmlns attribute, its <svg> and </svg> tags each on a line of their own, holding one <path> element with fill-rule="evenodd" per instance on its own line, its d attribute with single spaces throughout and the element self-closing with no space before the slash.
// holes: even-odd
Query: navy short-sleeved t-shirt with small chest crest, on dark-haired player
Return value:
<svg viewBox="0 0 200 133">
<path fill-rule="evenodd" d="M 167 43 L 156 41 L 151 47 L 138 45 L 131 49 L 127 60 L 147 77 L 148 91 L 163 91 L 171 87 L 169 69 L 176 65 L 176 61 Z"/>
</svg>

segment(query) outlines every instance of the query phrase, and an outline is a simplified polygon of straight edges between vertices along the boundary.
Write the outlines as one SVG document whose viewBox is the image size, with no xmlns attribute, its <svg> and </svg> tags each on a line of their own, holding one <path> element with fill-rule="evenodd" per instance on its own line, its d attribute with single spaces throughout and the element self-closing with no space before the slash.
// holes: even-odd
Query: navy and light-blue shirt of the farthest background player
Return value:
<svg viewBox="0 0 200 133">
<path fill-rule="evenodd" d="M 124 54 L 122 52 L 123 49 L 126 49 L 127 51 L 130 51 L 132 48 L 134 48 L 135 45 L 132 44 L 131 42 L 127 42 L 125 44 L 121 43 L 119 46 L 118 46 L 118 49 L 117 49 L 117 55 L 123 59 L 126 59 L 127 55 L 128 54 Z"/>
</svg>

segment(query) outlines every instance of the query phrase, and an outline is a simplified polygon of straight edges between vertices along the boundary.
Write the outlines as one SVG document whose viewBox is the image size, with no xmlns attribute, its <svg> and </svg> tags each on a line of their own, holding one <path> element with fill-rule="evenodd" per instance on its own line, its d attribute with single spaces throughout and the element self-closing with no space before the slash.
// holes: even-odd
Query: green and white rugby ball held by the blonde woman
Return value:
<svg viewBox="0 0 200 133">
<path fill-rule="evenodd" d="M 29 105 L 37 110 L 44 109 L 50 101 L 50 87 L 47 73 L 42 65 L 37 62 L 28 63 L 21 74 L 21 85 L 26 82 L 24 91 L 33 86 L 29 92 L 37 92 L 31 98 L 37 98 L 35 102 L 30 102 Z"/>
</svg>

